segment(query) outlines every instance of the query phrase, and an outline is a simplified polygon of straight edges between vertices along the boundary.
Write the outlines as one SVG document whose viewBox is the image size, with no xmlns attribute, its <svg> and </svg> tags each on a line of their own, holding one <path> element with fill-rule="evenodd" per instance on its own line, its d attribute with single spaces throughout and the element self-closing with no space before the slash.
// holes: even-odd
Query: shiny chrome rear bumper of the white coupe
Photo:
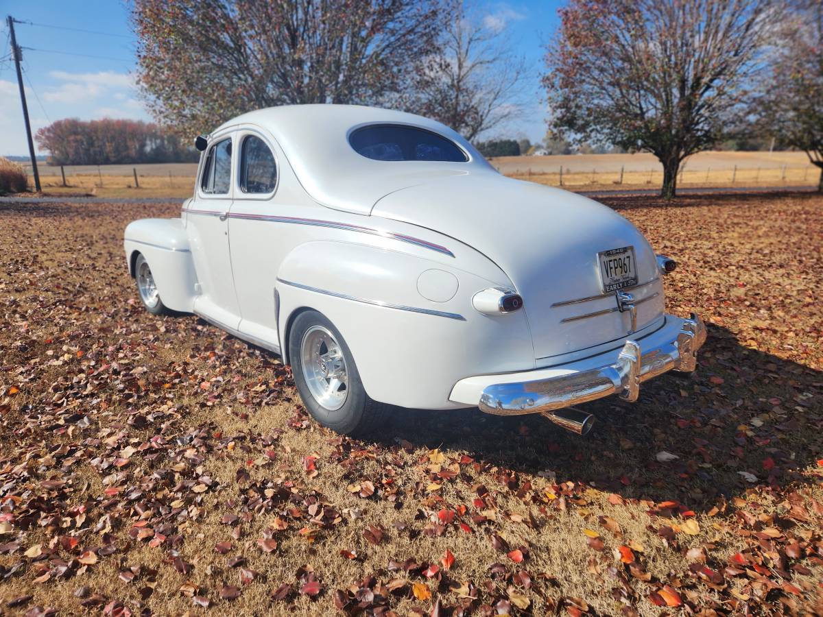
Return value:
<svg viewBox="0 0 823 617">
<path fill-rule="evenodd" d="M 636 401 L 640 383 L 669 370 L 691 372 L 697 365 L 697 350 L 706 340 L 703 321 L 695 313 L 691 313 L 690 319 L 671 315 L 667 319 L 681 322 L 679 332 L 657 341 L 649 350 L 641 353 L 638 341 L 625 341 L 613 364 L 533 381 L 486 386 L 480 397 L 480 409 L 495 415 L 541 413 L 611 394 Z"/>
</svg>

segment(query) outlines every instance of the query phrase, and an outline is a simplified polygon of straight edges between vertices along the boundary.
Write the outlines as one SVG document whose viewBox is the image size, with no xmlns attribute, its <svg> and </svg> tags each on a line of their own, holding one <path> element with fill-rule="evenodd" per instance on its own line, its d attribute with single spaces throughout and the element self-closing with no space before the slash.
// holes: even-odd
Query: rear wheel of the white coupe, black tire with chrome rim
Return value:
<svg viewBox="0 0 823 617">
<path fill-rule="evenodd" d="M 347 435 L 368 434 L 380 424 L 384 406 L 366 394 L 349 346 L 322 314 L 309 310 L 295 318 L 289 358 L 300 398 L 314 420 Z"/>
</svg>

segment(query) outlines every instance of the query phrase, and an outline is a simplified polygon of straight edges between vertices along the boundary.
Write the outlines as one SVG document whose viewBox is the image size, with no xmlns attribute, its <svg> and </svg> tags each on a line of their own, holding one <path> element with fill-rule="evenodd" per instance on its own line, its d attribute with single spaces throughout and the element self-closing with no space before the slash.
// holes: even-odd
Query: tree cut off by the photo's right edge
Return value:
<svg viewBox="0 0 823 617">
<path fill-rule="evenodd" d="M 821 169 L 817 188 L 823 192 L 823 2 L 788 2 L 779 33 L 753 107 L 756 123 L 806 152 Z"/>
</svg>

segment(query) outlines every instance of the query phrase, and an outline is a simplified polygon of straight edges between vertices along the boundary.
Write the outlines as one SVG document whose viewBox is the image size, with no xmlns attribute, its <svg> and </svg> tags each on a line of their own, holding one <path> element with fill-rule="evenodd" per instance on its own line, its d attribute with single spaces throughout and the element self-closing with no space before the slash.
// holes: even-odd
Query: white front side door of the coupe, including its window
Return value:
<svg viewBox="0 0 823 617">
<path fill-rule="evenodd" d="M 194 311 L 232 330 L 240 321 L 229 248 L 234 145 L 233 132 L 212 138 L 201 165 L 196 199 L 188 204 L 186 224 L 200 285 Z"/>
</svg>

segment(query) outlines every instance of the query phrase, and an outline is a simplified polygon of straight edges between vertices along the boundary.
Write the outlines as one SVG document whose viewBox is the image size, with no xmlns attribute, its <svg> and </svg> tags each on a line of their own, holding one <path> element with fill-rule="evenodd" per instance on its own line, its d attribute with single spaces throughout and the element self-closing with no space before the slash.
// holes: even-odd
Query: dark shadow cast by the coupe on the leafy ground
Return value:
<svg viewBox="0 0 823 617">
<path fill-rule="evenodd" d="M 636 403 L 609 397 L 581 408 L 597 417 L 585 437 L 539 415 L 393 408 L 377 441 L 465 451 L 501 471 L 695 510 L 751 487 L 811 483 L 802 471 L 823 457 L 821 371 L 741 346 L 723 327 L 709 325 L 697 373 L 646 382 Z"/>
</svg>

